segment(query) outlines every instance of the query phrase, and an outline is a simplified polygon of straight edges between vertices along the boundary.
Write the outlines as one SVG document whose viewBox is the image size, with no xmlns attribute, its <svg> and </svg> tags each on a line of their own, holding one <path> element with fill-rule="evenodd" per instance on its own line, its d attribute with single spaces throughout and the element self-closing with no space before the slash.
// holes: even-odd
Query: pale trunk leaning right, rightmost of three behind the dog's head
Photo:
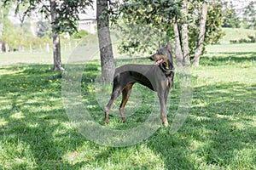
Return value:
<svg viewBox="0 0 256 170">
<path fill-rule="evenodd" d="M 197 39 L 197 48 L 195 49 L 195 57 L 193 59 L 193 65 L 199 66 L 200 56 L 203 49 L 203 44 L 205 40 L 207 25 L 207 3 L 203 3 L 201 8 L 201 20 L 200 20 L 200 31 Z"/>
</svg>

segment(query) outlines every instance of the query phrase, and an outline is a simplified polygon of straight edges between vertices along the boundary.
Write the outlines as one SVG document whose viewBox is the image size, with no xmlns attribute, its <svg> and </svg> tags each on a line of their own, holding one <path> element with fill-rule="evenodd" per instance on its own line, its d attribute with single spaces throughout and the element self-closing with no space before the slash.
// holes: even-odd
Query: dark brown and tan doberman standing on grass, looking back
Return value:
<svg viewBox="0 0 256 170">
<path fill-rule="evenodd" d="M 156 61 L 154 65 L 122 65 L 115 70 L 111 99 L 105 108 L 106 123 L 108 123 L 111 106 L 121 93 L 123 96 L 119 111 L 123 122 L 125 122 L 125 105 L 130 97 L 133 84 L 138 82 L 157 92 L 160 99 L 160 118 L 163 125 L 168 126 L 166 101 L 174 77 L 171 44 L 168 43 L 166 47 L 157 49 L 157 52 L 149 59 Z"/>
</svg>

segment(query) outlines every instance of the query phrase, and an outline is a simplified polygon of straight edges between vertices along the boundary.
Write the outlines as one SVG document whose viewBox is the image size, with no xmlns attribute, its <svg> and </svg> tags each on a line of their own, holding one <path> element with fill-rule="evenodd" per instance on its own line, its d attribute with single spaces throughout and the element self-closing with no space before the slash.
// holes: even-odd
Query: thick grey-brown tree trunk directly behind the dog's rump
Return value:
<svg viewBox="0 0 256 170">
<path fill-rule="evenodd" d="M 113 49 L 109 31 L 108 0 L 97 0 L 97 33 L 102 64 L 102 80 L 103 82 L 112 82 L 115 70 L 113 60 Z"/>
</svg>

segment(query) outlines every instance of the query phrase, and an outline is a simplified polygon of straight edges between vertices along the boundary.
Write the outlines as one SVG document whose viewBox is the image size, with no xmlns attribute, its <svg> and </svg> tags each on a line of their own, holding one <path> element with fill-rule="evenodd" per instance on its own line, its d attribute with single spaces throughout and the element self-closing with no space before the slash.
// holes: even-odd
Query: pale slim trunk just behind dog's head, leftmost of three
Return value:
<svg viewBox="0 0 256 170">
<path fill-rule="evenodd" d="M 173 20 L 173 31 L 175 34 L 175 55 L 176 55 L 176 63 L 178 67 L 183 66 L 183 51 L 181 47 L 181 42 L 180 42 L 180 36 L 179 36 L 179 31 L 177 27 L 177 20 Z"/>
</svg>

